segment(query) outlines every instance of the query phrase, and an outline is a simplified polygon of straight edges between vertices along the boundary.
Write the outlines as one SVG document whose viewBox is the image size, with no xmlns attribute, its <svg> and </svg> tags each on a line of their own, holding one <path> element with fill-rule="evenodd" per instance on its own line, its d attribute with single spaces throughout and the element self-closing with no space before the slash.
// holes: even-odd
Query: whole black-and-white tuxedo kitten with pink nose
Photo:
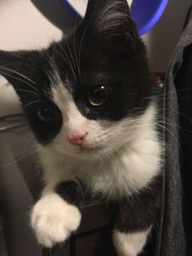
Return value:
<svg viewBox="0 0 192 256">
<path fill-rule="evenodd" d="M 31 214 L 39 243 L 51 247 L 76 231 L 86 191 L 119 203 L 117 254 L 140 254 L 161 202 L 163 150 L 158 91 L 127 1 L 89 0 L 67 40 L 42 51 L 0 51 L 0 65 L 45 170 Z"/>
</svg>

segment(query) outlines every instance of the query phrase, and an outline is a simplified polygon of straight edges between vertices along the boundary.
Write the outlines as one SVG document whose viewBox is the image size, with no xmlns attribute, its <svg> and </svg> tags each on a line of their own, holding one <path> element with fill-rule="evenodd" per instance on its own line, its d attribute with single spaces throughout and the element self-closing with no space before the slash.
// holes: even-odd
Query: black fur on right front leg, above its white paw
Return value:
<svg viewBox="0 0 192 256">
<path fill-rule="evenodd" d="M 151 225 L 157 227 L 162 193 L 163 177 L 161 175 L 156 177 L 147 188 L 121 202 L 118 206 L 116 229 L 126 233 L 145 231 Z"/>
</svg>

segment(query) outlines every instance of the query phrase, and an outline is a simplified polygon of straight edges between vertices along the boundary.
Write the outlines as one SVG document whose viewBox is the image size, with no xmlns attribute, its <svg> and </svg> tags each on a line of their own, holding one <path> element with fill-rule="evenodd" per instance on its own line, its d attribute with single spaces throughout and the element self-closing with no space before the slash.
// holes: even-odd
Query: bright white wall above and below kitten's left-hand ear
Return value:
<svg viewBox="0 0 192 256">
<path fill-rule="evenodd" d="M 1 50 L 41 49 L 61 37 L 61 31 L 30 0 L 0 0 Z M 0 77 L 0 116 L 18 111 L 15 91 Z"/>
</svg>

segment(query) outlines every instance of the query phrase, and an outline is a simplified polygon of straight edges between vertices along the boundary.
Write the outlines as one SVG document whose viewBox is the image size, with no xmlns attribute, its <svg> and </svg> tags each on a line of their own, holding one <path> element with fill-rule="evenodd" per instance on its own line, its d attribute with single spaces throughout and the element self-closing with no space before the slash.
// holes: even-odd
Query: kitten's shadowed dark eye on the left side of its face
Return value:
<svg viewBox="0 0 192 256">
<path fill-rule="evenodd" d="M 55 108 L 51 104 L 41 104 L 38 109 L 38 117 L 41 121 L 52 123 L 55 121 Z"/>
</svg>

